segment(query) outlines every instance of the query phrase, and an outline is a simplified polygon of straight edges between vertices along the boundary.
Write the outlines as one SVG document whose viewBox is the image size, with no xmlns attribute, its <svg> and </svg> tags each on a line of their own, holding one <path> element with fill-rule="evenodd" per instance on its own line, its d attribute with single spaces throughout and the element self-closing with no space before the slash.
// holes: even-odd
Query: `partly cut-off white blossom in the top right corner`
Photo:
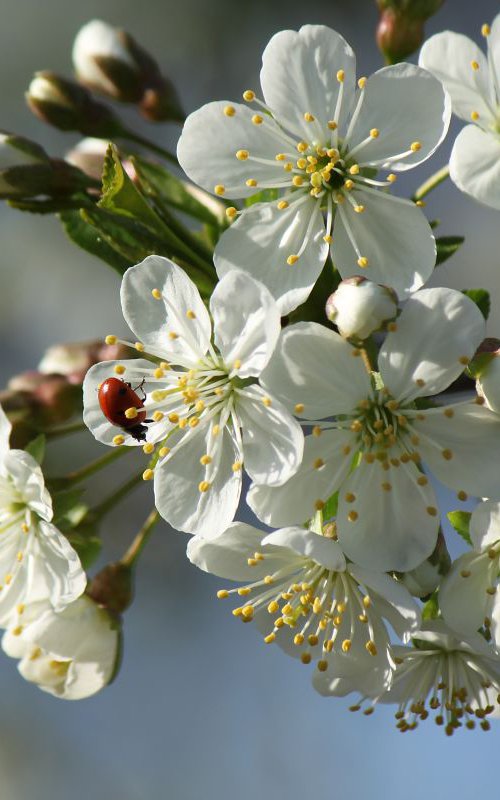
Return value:
<svg viewBox="0 0 500 800">
<path fill-rule="evenodd" d="M 500 209 L 500 14 L 483 25 L 487 56 L 467 36 L 444 31 L 424 44 L 419 63 L 442 81 L 466 125 L 453 145 L 450 177 L 481 203 Z"/>
</svg>

